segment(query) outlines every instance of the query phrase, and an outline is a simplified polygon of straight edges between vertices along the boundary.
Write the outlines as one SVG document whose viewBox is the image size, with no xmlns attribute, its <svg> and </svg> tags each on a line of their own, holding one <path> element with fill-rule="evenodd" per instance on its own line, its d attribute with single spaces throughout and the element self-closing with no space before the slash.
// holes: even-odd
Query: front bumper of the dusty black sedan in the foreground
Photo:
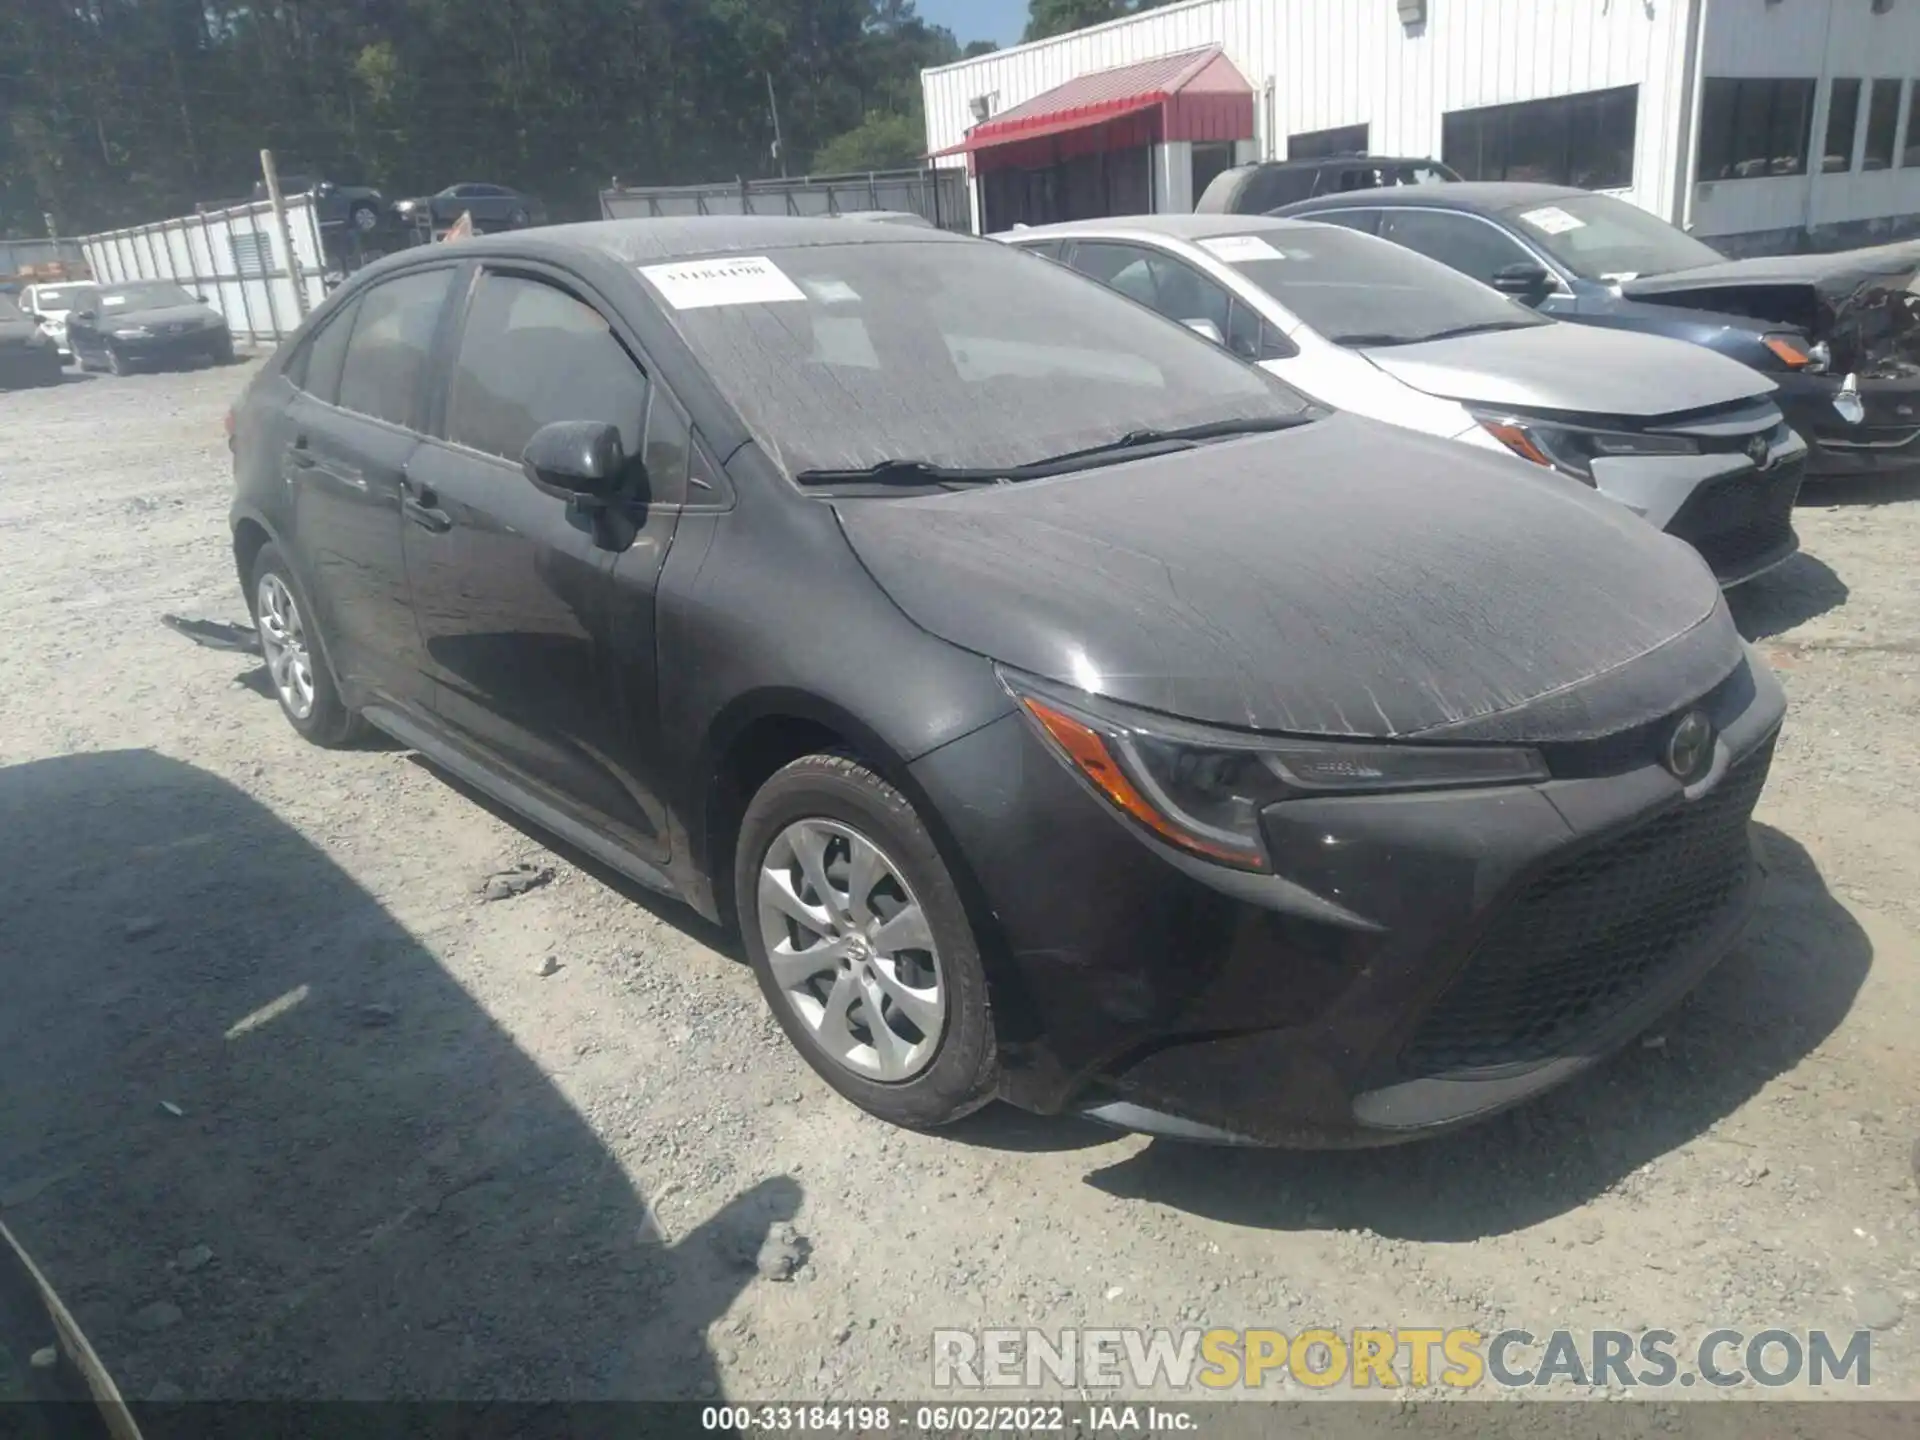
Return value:
<svg viewBox="0 0 1920 1440">
<path fill-rule="evenodd" d="M 1692 708 L 1692 707 L 1688 707 Z M 1674 1004 L 1757 897 L 1786 701 L 1757 657 L 1538 785 L 1290 801 L 1275 876 L 1142 839 L 1010 716 L 914 766 L 981 889 L 1006 1096 L 1188 1139 L 1356 1146 L 1551 1089 Z"/>
</svg>

